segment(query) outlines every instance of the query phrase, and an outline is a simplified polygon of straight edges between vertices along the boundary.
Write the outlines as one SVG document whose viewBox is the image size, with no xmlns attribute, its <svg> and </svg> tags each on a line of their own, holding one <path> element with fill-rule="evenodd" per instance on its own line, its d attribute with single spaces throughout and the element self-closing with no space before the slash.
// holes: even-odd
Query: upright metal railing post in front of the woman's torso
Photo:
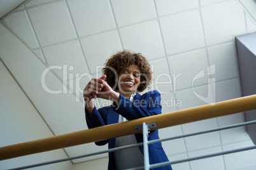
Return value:
<svg viewBox="0 0 256 170">
<path fill-rule="evenodd" d="M 148 125 L 143 122 L 143 148 L 144 148 L 144 169 L 150 170 L 150 162 L 148 156 Z"/>
</svg>

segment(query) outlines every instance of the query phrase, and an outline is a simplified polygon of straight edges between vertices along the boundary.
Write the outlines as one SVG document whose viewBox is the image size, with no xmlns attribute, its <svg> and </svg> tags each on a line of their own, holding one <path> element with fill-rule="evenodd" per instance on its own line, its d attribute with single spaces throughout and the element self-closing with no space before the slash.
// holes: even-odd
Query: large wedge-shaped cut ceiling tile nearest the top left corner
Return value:
<svg viewBox="0 0 256 170">
<path fill-rule="evenodd" d="M 25 11 L 12 13 L 8 17 L 4 18 L 4 22 L 10 27 L 15 34 L 22 39 L 29 46 L 29 48 L 37 48 L 38 42 L 34 36 L 34 32 L 29 22 L 29 18 Z"/>
</svg>

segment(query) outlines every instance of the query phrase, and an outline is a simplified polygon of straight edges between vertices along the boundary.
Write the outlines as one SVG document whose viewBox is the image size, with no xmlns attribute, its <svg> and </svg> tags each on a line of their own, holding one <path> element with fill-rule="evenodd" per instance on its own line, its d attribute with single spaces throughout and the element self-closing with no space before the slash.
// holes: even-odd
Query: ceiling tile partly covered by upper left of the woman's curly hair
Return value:
<svg viewBox="0 0 256 170">
<path fill-rule="evenodd" d="M 122 46 L 116 30 L 81 39 L 86 61 L 92 74 L 99 72 L 104 63 Z"/>
</svg>

